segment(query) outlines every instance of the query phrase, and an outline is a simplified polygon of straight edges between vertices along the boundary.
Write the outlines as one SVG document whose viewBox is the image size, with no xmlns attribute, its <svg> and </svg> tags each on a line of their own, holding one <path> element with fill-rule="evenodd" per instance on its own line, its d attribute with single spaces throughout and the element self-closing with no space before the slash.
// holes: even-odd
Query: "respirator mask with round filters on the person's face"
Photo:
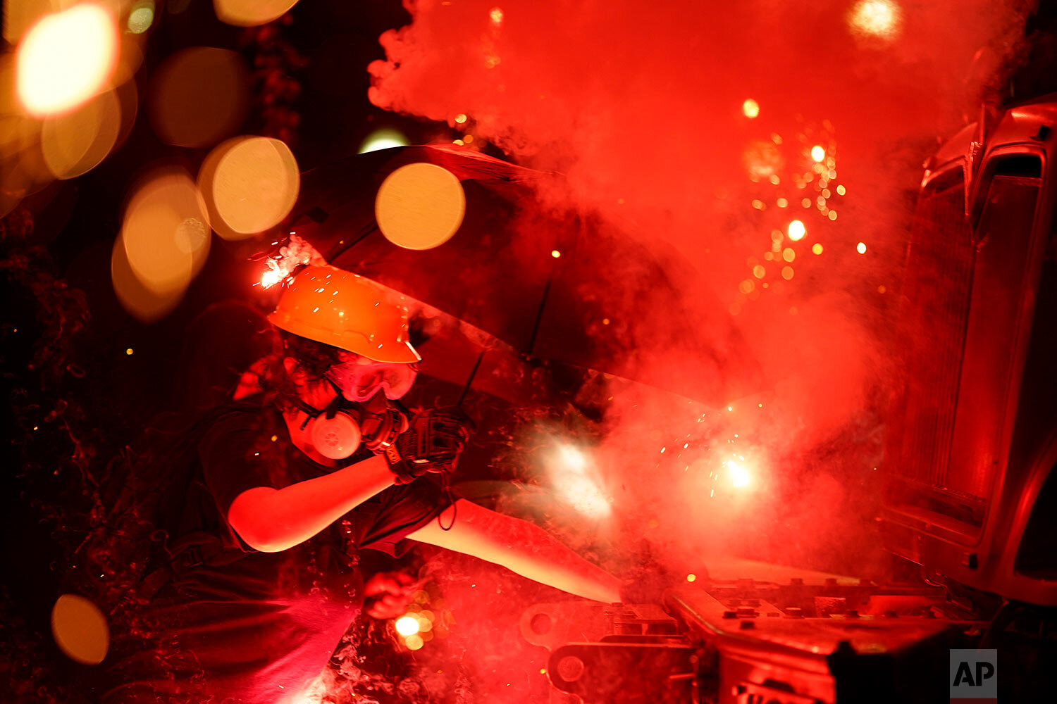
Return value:
<svg viewBox="0 0 1057 704">
<path fill-rule="evenodd" d="M 408 429 L 407 418 L 389 403 L 388 395 L 376 394 L 375 389 L 375 394 L 360 402 L 350 401 L 342 395 L 341 386 L 329 377 L 324 379 L 336 392 L 326 408 L 315 408 L 300 400 L 294 402 L 308 416 L 301 430 L 308 430 L 313 446 L 323 457 L 346 459 L 360 444 L 372 452 L 383 451 Z"/>
</svg>

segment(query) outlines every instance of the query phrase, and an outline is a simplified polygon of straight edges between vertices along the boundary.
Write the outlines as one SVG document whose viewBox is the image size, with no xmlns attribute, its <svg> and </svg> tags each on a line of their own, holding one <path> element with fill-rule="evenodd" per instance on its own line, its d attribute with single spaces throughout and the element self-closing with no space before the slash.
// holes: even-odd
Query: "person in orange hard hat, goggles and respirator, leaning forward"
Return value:
<svg viewBox="0 0 1057 704">
<path fill-rule="evenodd" d="M 619 601 L 614 576 L 540 528 L 449 498 L 469 421 L 408 417 L 396 402 L 420 357 L 386 289 L 309 266 L 270 320 L 281 349 L 243 375 L 202 434 L 161 571 L 171 578 L 116 644 L 108 704 L 301 701 L 350 623 L 402 612 L 415 585 L 392 573 L 365 585 L 359 552 L 400 555 L 409 539 Z"/>
</svg>

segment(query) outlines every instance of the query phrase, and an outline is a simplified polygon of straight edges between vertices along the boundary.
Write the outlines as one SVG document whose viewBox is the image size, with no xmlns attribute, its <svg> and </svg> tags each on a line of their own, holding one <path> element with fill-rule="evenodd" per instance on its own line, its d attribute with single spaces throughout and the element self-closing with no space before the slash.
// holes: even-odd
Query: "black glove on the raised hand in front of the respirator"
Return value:
<svg viewBox="0 0 1057 704">
<path fill-rule="evenodd" d="M 412 418 L 410 426 L 378 454 L 389 462 L 398 484 L 410 483 L 427 472 L 451 472 L 469 440 L 469 418 L 461 411 L 426 411 Z"/>
</svg>

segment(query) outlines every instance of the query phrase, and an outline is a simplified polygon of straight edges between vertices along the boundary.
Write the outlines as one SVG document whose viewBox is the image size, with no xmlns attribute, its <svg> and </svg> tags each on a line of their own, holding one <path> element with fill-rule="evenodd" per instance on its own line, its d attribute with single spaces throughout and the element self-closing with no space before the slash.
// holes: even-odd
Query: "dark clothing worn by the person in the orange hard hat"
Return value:
<svg viewBox="0 0 1057 704">
<path fill-rule="evenodd" d="M 404 537 L 449 500 L 432 477 L 422 477 L 379 492 L 301 545 L 257 552 L 227 522 L 235 497 L 334 468 L 297 450 L 281 413 L 259 397 L 222 410 L 199 457 L 202 473 L 184 501 L 180 534 L 202 536 L 202 558 L 183 567 L 174 560 L 177 577 L 145 609 L 140 631 L 115 643 L 114 686 L 104 701 L 300 701 L 295 693 L 322 671 L 361 609 L 358 551 L 402 553 Z"/>
</svg>

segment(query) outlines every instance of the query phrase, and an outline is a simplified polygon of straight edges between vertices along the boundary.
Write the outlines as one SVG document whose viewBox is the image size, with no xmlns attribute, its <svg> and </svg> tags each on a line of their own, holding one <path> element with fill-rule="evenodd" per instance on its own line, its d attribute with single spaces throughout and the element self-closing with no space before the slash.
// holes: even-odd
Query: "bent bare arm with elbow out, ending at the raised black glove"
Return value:
<svg viewBox="0 0 1057 704">
<path fill-rule="evenodd" d="M 227 520 L 251 548 L 279 552 L 308 540 L 393 483 L 379 456 L 282 489 L 254 487 L 231 501 Z"/>
</svg>

